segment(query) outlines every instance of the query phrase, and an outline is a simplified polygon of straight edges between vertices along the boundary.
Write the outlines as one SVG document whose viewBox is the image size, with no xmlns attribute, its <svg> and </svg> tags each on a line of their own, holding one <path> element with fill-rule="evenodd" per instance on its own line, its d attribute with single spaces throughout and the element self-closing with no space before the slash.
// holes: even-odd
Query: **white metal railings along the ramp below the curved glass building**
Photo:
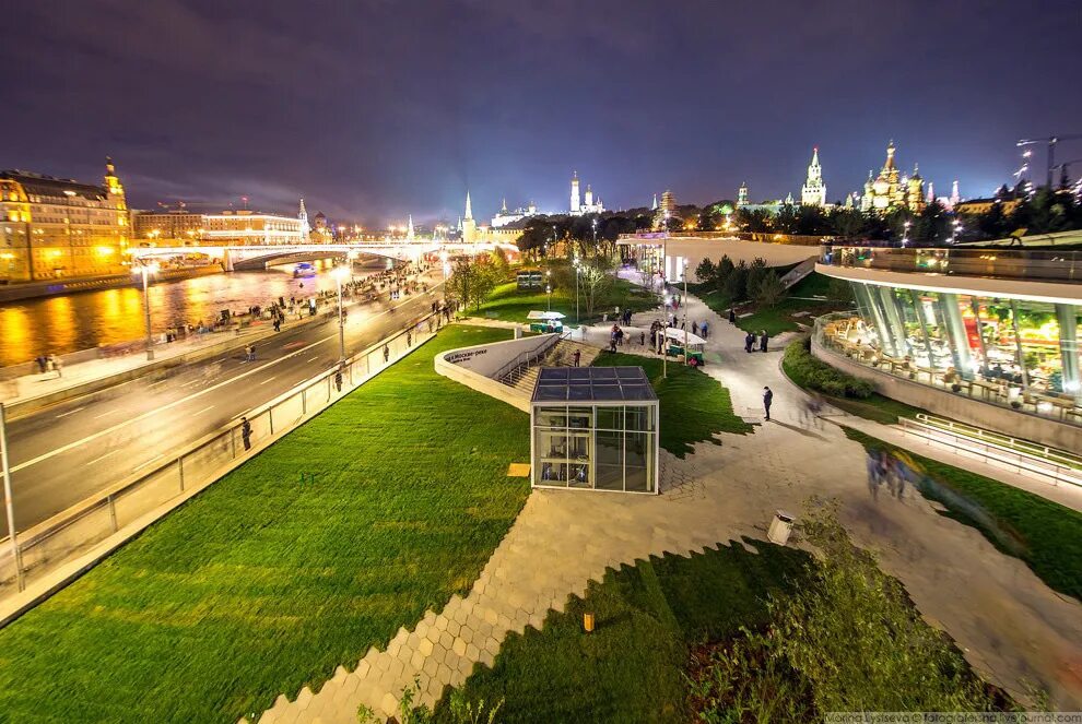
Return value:
<svg viewBox="0 0 1082 724">
<path fill-rule="evenodd" d="M 1035 475 L 1051 485 L 1067 483 L 1082 487 L 1082 459 L 1077 455 L 953 420 L 927 415 L 917 417 L 918 419 L 898 418 L 903 434 L 920 438 L 929 444 L 945 446 L 960 454 L 979 458 L 986 463 L 1014 468 L 1019 474 Z M 1043 449 L 1046 452 L 1034 454 L 1025 448 Z"/>
</svg>

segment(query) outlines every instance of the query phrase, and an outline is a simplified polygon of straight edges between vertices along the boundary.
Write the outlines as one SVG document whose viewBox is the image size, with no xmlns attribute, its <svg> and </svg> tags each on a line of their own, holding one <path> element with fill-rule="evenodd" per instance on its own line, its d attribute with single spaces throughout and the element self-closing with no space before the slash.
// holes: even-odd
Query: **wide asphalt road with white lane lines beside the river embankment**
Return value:
<svg viewBox="0 0 1082 724">
<path fill-rule="evenodd" d="M 438 272 L 425 277 L 438 282 Z M 431 311 L 442 289 L 349 308 L 346 352 Z M 320 312 L 322 313 L 322 312 Z M 339 358 L 337 318 L 284 328 L 243 349 L 71 400 L 8 425 L 17 531 L 47 520 L 279 396 Z M 7 514 L 0 517 L 7 535 Z"/>
</svg>

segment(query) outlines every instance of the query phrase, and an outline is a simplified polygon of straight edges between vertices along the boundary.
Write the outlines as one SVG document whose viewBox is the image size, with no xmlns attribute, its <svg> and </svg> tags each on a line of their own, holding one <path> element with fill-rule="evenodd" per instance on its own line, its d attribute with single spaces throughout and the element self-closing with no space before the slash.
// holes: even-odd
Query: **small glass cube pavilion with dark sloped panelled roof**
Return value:
<svg viewBox="0 0 1082 724">
<path fill-rule="evenodd" d="M 533 487 L 658 492 L 658 397 L 640 367 L 545 367 L 530 402 Z"/>
</svg>

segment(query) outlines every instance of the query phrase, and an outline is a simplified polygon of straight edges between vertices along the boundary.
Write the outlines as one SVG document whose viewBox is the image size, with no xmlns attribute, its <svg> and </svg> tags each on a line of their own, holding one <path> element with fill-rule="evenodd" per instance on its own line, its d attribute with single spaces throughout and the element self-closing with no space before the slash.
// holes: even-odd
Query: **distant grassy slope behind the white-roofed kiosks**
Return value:
<svg viewBox="0 0 1082 724">
<path fill-rule="evenodd" d="M 574 276 L 571 288 L 555 288 L 552 292 L 552 311 L 565 314 L 564 322 L 575 323 L 575 287 Z M 619 306 L 621 311 L 631 309 L 632 311 L 643 311 L 654 309 L 657 306 L 657 298 L 646 289 L 632 284 L 625 280 L 614 280 L 612 289 L 601 305 L 601 308 L 592 316 L 586 313 L 586 299 L 579 296 L 579 312 L 583 322 L 600 320 L 602 312 L 611 312 L 613 307 Z M 486 317 L 490 319 L 502 319 L 510 322 L 526 322 L 526 316 L 531 310 L 545 311 L 549 309 L 548 295 L 544 289 L 519 289 L 516 282 L 508 282 L 498 285 L 489 297 L 489 300 L 481 305 L 481 309 L 469 309 L 468 313 L 474 317 Z"/>
</svg>

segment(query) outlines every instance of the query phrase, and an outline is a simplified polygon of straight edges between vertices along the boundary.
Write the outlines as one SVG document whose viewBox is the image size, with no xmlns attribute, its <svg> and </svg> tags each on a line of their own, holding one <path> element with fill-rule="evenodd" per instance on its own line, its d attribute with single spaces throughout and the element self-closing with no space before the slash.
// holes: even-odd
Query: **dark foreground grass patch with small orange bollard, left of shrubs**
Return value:
<svg viewBox="0 0 1082 724">
<path fill-rule="evenodd" d="M 787 593 L 803 577 L 804 553 L 753 542 L 666 555 L 609 570 L 585 598 L 550 613 L 541 631 L 510 634 L 493 667 L 462 687 L 468 701 L 504 704 L 497 720 L 518 722 L 686 722 L 684 672 L 690 649 L 767 621 L 771 591 Z M 583 614 L 596 617 L 583 631 Z M 450 722 L 447 697 L 437 722 Z"/>
</svg>

